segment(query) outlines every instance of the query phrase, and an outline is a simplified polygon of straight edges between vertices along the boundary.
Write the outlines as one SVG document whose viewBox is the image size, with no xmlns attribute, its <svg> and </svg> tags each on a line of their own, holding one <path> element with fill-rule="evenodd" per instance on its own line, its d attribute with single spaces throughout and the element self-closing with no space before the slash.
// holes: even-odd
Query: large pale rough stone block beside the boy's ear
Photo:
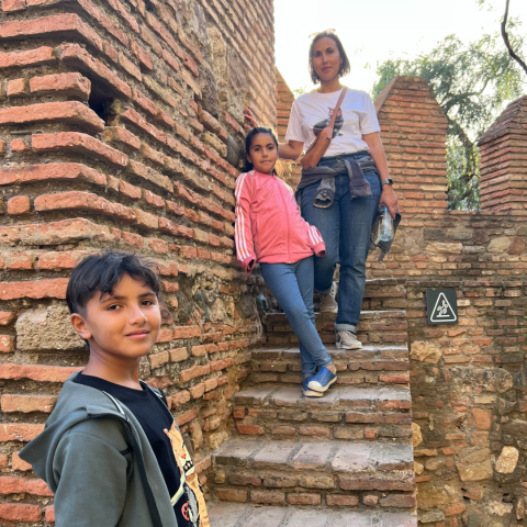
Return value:
<svg viewBox="0 0 527 527">
<path fill-rule="evenodd" d="M 69 310 L 64 304 L 24 311 L 16 321 L 16 349 L 86 349 L 85 341 L 75 333 L 69 317 Z"/>
</svg>

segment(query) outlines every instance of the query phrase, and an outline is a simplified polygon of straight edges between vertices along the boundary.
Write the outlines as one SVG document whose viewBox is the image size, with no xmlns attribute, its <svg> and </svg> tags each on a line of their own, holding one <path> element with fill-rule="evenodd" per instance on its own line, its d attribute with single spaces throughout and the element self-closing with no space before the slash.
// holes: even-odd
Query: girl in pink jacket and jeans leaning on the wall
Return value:
<svg viewBox="0 0 527 527">
<path fill-rule="evenodd" d="M 313 254 L 325 255 L 324 240 L 300 215 L 291 188 L 277 177 L 278 142 L 272 132 L 253 128 L 245 148 L 247 171 L 235 189 L 237 258 L 247 273 L 260 264 L 300 341 L 303 394 L 322 396 L 337 380 L 313 311 Z"/>
</svg>

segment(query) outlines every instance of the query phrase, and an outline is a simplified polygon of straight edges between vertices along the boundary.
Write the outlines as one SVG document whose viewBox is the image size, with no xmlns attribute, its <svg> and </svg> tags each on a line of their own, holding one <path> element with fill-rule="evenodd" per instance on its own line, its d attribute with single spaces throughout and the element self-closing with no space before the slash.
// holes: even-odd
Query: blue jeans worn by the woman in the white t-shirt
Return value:
<svg viewBox="0 0 527 527">
<path fill-rule="evenodd" d="M 341 159 L 360 159 L 366 152 L 347 154 Z M 319 166 L 332 167 L 337 158 L 322 158 Z M 338 315 L 335 329 L 357 332 L 360 307 L 366 285 L 366 259 L 370 247 L 371 225 L 379 210 L 381 183 L 375 170 L 365 171 L 372 195 L 349 198 L 349 178 L 339 175 L 335 178 L 335 201 L 328 209 L 313 205 L 318 182 L 302 190 L 302 216 L 315 225 L 326 243 L 326 256 L 315 257 L 315 289 L 328 293 L 333 282 L 335 266 L 340 264 L 338 289 Z"/>
</svg>

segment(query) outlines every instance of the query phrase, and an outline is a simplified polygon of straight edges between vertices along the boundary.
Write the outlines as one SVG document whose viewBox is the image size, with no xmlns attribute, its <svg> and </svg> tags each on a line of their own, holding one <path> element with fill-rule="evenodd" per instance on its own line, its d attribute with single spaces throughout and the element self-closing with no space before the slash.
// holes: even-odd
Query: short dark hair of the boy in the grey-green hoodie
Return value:
<svg viewBox="0 0 527 527">
<path fill-rule="evenodd" d="M 157 266 L 139 256 L 105 250 L 86 257 L 71 272 L 66 290 L 70 313 L 81 313 L 88 301 L 100 291 L 112 293 L 124 274 L 143 281 L 159 296 Z"/>
</svg>

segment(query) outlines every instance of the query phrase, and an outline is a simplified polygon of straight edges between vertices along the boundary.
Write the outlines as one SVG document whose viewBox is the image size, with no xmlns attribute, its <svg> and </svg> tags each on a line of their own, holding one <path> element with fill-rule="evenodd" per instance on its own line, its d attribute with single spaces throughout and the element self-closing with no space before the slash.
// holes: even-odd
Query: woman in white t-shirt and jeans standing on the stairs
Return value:
<svg viewBox="0 0 527 527">
<path fill-rule="evenodd" d="M 340 77 L 350 70 L 343 44 L 333 30 L 314 36 L 310 47 L 310 74 L 321 87 L 296 99 L 291 110 L 285 144 L 279 145 L 283 159 L 298 159 L 316 139 L 316 134 L 329 124 L 343 90 Z M 256 125 L 250 110 L 246 117 Z M 329 190 L 332 202 L 321 206 L 321 180 L 312 182 L 303 175 L 301 192 L 302 215 L 318 228 L 326 244 L 326 256 L 315 258 L 315 288 L 322 293 L 321 312 L 338 313 L 335 322 L 337 348 L 359 349 L 357 324 L 366 285 L 366 259 L 370 231 L 379 205 L 386 205 L 395 217 L 397 198 L 393 191 L 386 158 L 380 137 L 375 109 L 368 93 L 347 89 L 334 126 L 333 138 L 318 162 L 338 171 Z M 348 161 L 348 162 L 345 162 Z M 373 166 L 374 161 L 374 166 Z M 363 167 L 360 177 L 369 183 L 366 192 L 354 197 L 351 172 L 344 166 Z M 377 168 L 374 168 L 377 167 Z M 355 177 L 354 169 L 354 177 Z M 322 179 L 322 178 L 321 178 Z M 323 181 L 326 181 L 324 179 Z M 365 182 L 366 187 L 368 184 Z M 327 198 L 328 192 L 324 193 Z M 369 194 L 369 195 L 368 195 Z M 340 264 L 338 305 L 333 276 Z"/>
</svg>

